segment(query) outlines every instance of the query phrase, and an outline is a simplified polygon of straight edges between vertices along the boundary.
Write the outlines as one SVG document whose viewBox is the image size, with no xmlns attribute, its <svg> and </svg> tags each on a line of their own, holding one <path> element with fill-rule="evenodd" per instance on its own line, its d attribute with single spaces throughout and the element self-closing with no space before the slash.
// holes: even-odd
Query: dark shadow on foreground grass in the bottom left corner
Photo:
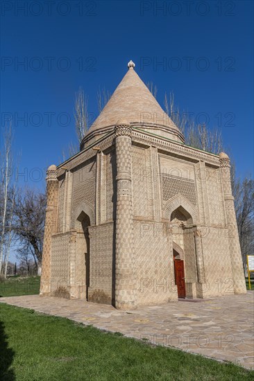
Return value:
<svg viewBox="0 0 254 381">
<path fill-rule="evenodd" d="M 8 348 L 8 336 L 4 332 L 3 322 L 0 321 L 0 380 L 14 381 L 15 374 L 10 369 L 15 352 Z"/>
</svg>

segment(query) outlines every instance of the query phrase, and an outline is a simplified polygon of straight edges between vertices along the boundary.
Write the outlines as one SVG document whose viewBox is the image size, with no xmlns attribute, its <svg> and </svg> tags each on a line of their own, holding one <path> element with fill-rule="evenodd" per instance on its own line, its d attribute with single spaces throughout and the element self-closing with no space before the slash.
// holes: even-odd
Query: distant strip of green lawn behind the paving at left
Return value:
<svg viewBox="0 0 254 381">
<path fill-rule="evenodd" d="M 40 276 L 11 276 L 0 280 L 0 297 L 33 295 L 40 292 Z"/>
</svg>

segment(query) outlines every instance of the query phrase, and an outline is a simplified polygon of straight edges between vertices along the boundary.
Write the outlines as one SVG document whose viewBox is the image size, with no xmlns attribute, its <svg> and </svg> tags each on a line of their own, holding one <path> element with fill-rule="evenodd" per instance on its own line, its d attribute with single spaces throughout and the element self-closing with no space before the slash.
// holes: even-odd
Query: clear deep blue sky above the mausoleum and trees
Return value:
<svg viewBox="0 0 254 381">
<path fill-rule="evenodd" d="M 253 1 L 2 1 L 1 125 L 12 117 L 29 185 L 43 188 L 44 168 L 76 143 L 78 87 L 96 115 L 99 87 L 114 91 L 130 59 L 161 105 L 173 91 L 221 127 L 237 173 L 251 174 Z"/>
</svg>

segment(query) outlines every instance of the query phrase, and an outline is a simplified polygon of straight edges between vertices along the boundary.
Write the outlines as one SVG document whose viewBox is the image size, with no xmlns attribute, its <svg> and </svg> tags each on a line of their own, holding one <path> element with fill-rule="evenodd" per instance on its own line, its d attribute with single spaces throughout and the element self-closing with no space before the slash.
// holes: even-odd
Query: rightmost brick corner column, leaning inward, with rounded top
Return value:
<svg viewBox="0 0 254 381">
<path fill-rule="evenodd" d="M 221 179 L 223 184 L 224 203 L 226 209 L 226 222 L 228 227 L 228 242 L 232 264 L 232 276 L 235 294 L 245 294 L 246 284 L 244 278 L 244 267 L 242 263 L 241 248 L 235 216 L 234 197 L 232 196 L 230 178 L 230 159 L 227 154 L 219 154 L 221 166 Z"/>
</svg>

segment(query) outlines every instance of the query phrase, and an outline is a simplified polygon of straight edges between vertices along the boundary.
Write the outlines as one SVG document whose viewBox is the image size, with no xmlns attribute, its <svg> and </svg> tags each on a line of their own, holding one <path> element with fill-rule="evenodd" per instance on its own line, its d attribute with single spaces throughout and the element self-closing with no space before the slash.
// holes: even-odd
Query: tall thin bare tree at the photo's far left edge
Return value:
<svg viewBox="0 0 254 381">
<path fill-rule="evenodd" d="M 6 239 L 6 232 L 10 223 L 10 192 L 11 178 L 13 172 L 12 158 L 12 127 L 3 128 L 3 148 L 1 149 L 1 238 L 0 238 L 0 275 L 3 267 L 3 250 Z"/>
</svg>

